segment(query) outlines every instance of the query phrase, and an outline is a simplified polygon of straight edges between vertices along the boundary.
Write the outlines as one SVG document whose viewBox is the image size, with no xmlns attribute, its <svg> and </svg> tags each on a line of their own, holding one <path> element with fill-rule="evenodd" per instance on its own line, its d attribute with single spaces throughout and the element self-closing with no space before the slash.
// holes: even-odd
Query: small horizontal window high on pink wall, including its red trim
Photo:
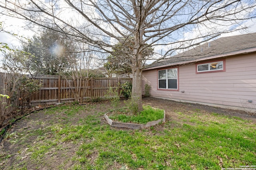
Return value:
<svg viewBox="0 0 256 170">
<path fill-rule="evenodd" d="M 222 72 L 225 71 L 225 61 L 215 61 L 212 63 L 204 63 L 196 65 L 197 73 L 206 72 Z"/>
</svg>

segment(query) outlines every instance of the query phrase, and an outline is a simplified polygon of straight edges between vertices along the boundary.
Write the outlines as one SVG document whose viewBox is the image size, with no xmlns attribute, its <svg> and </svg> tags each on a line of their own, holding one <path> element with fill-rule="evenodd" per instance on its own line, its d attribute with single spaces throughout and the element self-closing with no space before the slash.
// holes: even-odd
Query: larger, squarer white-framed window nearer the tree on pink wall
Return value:
<svg viewBox="0 0 256 170">
<path fill-rule="evenodd" d="M 158 70 L 159 89 L 178 89 L 178 68 Z"/>
</svg>

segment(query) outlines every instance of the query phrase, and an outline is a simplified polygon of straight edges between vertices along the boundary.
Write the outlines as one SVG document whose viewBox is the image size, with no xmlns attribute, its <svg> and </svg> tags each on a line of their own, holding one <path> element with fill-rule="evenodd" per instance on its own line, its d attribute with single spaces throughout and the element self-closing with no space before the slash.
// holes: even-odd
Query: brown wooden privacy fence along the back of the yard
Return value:
<svg viewBox="0 0 256 170">
<path fill-rule="evenodd" d="M 72 90 L 75 90 L 74 81 L 61 76 L 44 75 L 37 78 L 42 83 L 42 88 L 34 94 L 31 100 L 32 106 L 42 104 L 56 104 L 61 102 L 72 102 L 75 100 Z M 80 83 L 80 80 L 76 80 Z M 87 80 L 87 89 L 83 96 L 86 98 L 104 98 L 110 87 L 116 88 L 119 84 L 132 81 L 131 78 L 91 78 Z M 77 84 L 78 84 L 77 83 Z M 86 80 L 82 80 L 82 89 L 86 88 Z M 121 87 L 117 90 L 120 94 Z M 81 95 L 81 94 L 80 94 Z"/>
</svg>

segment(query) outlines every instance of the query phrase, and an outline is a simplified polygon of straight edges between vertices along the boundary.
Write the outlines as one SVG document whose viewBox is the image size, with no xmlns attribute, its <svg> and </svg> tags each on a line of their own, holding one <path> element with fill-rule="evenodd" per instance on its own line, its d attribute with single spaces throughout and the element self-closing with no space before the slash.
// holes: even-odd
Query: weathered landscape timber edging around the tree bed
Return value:
<svg viewBox="0 0 256 170">
<path fill-rule="evenodd" d="M 110 113 L 110 112 L 108 112 L 108 113 Z M 150 122 L 148 122 L 146 124 L 123 123 L 123 122 L 118 122 L 118 121 L 112 121 L 108 117 L 108 115 L 107 115 L 108 113 L 105 113 L 104 117 L 105 117 L 106 121 L 108 122 L 108 124 L 110 126 L 112 126 L 112 127 L 125 127 L 125 128 L 130 128 L 130 129 L 145 129 L 145 128 L 150 127 L 150 126 L 157 125 L 160 122 L 165 123 L 165 111 L 164 111 L 164 118 L 158 119 L 158 120 L 154 120 L 154 121 L 150 121 Z"/>
</svg>

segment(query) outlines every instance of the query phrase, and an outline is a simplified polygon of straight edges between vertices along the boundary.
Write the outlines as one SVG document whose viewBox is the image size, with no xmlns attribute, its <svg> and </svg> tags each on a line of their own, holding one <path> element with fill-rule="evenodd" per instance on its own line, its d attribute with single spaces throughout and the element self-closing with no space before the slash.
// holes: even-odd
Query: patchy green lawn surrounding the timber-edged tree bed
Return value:
<svg viewBox="0 0 256 170">
<path fill-rule="evenodd" d="M 110 127 L 103 118 L 108 110 L 105 103 L 63 105 L 26 117 L 1 143 L 1 169 L 256 168 L 256 124 L 251 121 L 176 108 L 166 111 L 164 124 L 130 130 Z"/>
</svg>

